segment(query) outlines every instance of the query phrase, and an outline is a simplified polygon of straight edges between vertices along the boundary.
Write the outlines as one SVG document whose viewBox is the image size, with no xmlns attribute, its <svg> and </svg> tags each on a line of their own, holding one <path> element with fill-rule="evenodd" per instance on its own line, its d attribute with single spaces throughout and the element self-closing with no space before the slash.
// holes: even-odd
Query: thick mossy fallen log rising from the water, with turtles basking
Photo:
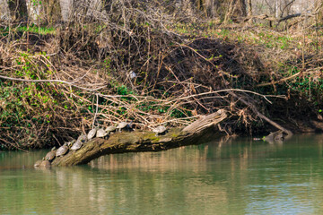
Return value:
<svg viewBox="0 0 323 215">
<path fill-rule="evenodd" d="M 65 156 L 57 157 L 52 166 L 74 166 L 90 162 L 102 155 L 138 151 L 169 150 L 179 146 L 194 144 L 209 128 L 214 127 L 227 117 L 223 109 L 204 116 L 196 122 L 180 128 L 172 128 L 164 135 L 156 136 L 153 132 L 135 131 L 113 133 L 108 140 L 95 138 L 86 142 L 80 150 L 70 150 Z"/>
</svg>

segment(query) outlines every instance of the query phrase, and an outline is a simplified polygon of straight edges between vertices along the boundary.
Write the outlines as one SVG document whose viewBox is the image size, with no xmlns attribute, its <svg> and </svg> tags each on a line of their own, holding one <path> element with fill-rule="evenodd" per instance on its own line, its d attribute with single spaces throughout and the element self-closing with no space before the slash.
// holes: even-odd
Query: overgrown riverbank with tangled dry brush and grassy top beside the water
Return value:
<svg viewBox="0 0 323 215">
<path fill-rule="evenodd" d="M 270 121 L 322 131 L 322 31 L 127 15 L 127 28 L 0 31 L 2 150 L 50 148 L 121 121 L 180 127 L 219 108 L 228 134 L 267 134 Z"/>
</svg>

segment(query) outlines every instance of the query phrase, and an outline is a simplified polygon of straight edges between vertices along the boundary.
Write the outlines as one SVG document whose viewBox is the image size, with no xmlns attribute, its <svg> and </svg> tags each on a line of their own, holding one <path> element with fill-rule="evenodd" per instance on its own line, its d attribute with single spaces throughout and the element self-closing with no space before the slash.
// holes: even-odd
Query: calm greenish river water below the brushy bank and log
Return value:
<svg viewBox="0 0 323 215">
<path fill-rule="evenodd" d="M 0 152 L 0 214 L 323 214 L 322 134 L 32 168 L 46 152 Z"/>
</svg>

